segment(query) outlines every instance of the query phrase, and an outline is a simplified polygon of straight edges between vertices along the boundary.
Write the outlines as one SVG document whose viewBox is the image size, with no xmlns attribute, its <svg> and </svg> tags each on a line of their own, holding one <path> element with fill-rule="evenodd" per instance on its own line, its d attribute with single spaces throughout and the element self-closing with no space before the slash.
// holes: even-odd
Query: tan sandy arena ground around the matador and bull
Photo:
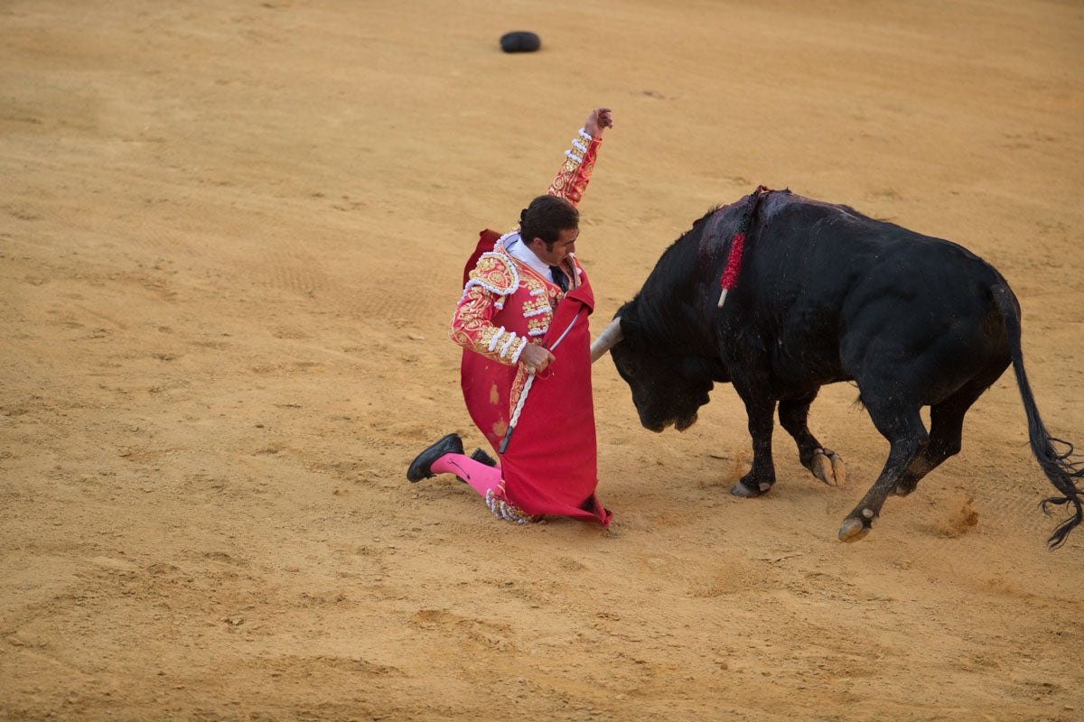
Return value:
<svg viewBox="0 0 1084 722">
<path fill-rule="evenodd" d="M 780 433 L 732 498 L 733 390 L 656 435 L 608 360 L 609 531 L 405 482 L 481 442 L 463 260 L 596 105 L 596 332 L 694 219 L 790 187 L 996 265 L 1084 443 L 1079 2 L 5 0 L 0 718 L 1084 719 L 1084 530 L 1044 546 L 1010 376 L 855 544 L 887 444 L 847 385 L 812 421 L 842 488 Z"/>
</svg>

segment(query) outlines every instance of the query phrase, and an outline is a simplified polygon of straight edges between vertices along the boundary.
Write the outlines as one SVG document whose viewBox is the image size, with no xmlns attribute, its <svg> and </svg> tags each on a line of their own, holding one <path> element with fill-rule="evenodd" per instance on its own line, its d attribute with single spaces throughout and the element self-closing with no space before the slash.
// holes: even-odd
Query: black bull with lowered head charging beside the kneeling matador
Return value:
<svg viewBox="0 0 1084 722">
<path fill-rule="evenodd" d="M 744 258 L 719 307 L 720 277 L 743 216 Z M 965 413 L 1011 364 L 1032 451 L 1060 493 L 1043 509 L 1071 509 L 1050 548 L 1084 518 L 1074 485 L 1084 464 L 1071 461 L 1072 446 L 1051 438 L 1040 419 L 1020 351 L 1019 303 L 997 271 L 947 240 L 789 191 L 746 196 L 701 218 L 662 254 L 595 342 L 593 357 L 615 343 L 617 370 L 653 431 L 687 429 L 714 382 L 734 385 L 753 447 L 749 473 L 731 489 L 743 497 L 775 483 L 776 405 L 802 465 L 841 483 L 841 460 L 814 438 L 806 419 L 822 385 L 855 382 L 891 449 L 843 520 L 844 541 L 868 534 L 890 494 L 906 496 L 959 451 Z"/>
</svg>

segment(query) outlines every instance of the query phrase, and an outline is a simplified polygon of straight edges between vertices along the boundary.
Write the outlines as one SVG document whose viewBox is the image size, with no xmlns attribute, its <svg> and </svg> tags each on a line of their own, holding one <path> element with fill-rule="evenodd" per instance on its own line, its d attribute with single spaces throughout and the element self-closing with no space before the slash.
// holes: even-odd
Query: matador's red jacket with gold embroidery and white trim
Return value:
<svg viewBox="0 0 1084 722">
<path fill-rule="evenodd" d="M 592 137 L 580 129 L 571 145 L 547 193 L 576 206 L 591 180 L 602 137 Z M 505 241 L 518 231 L 502 236 L 491 252 L 478 259 L 449 329 L 459 345 L 508 366 L 519 362 L 528 343 L 541 343 L 554 310 L 565 297 L 553 279 L 505 250 Z M 583 268 L 575 257 L 569 258 L 571 267 L 565 271 L 576 274 L 572 286 L 579 286 Z"/>
</svg>

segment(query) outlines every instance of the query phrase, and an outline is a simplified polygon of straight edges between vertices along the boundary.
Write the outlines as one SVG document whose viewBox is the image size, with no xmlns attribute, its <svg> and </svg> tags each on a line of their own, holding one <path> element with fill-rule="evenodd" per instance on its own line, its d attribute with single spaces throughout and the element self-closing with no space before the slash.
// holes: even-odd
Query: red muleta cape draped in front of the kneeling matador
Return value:
<svg viewBox="0 0 1084 722">
<path fill-rule="evenodd" d="M 478 258 L 493 250 L 499 234 L 483 231 L 478 248 L 467 262 L 466 276 Z M 531 383 L 519 421 L 501 457 L 504 494 L 508 502 L 528 514 L 555 514 L 609 526 L 612 514 L 595 496 L 598 485 L 595 411 L 591 393 L 591 333 L 588 316 L 594 311 L 594 294 L 586 274 L 557 305 L 543 345 L 555 360 Z M 511 294 L 506 309 L 518 309 L 522 287 Z M 520 314 L 500 317 L 509 331 L 528 332 Z M 518 324 L 518 325 L 517 325 Z M 567 330 L 567 333 L 566 333 Z M 494 449 L 512 418 L 512 393 L 520 367 L 490 360 L 464 350 L 460 368 L 467 411 Z"/>
</svg>

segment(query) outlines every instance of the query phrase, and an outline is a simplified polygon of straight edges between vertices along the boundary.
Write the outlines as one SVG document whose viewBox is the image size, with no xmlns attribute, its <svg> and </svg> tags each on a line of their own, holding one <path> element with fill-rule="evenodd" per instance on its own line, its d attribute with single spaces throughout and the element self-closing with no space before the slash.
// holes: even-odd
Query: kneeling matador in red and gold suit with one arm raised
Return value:
<svg viewBox="0 0 1084 722">
<path fill-rule="evenodd" d="M 464 271 L 450 336 L 463 346 L 463 397 L 498 451 L 464 454 L 459 434 L 424 450 L 411 482 L 455 474 L 500 518 L 525 524 L 544 515 L 593 520 L 612 514 L 598 485 L 591 397 L 594 296 L 576 258 L 577 208 L 591 180 L 609 108 L 596 108 L 565 152 L 546 195 L 503 236 L 486 229 Z"/>
</svg>

